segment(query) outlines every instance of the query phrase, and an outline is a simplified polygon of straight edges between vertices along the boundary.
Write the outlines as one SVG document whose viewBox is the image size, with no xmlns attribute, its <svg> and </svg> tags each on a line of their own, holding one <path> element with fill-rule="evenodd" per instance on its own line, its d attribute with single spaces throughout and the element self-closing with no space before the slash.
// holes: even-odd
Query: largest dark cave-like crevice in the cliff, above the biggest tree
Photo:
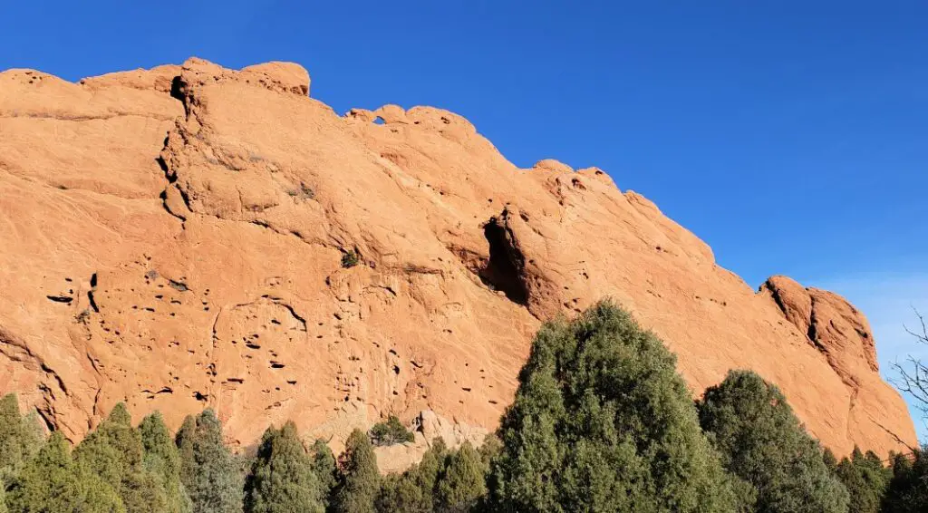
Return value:
<svg viewBox="0 0 928 513">
<path fill-rule="evenodd" d="M 500 290 L 509 301 L 528 305 L 529 287 L 525 279 L 525 257 L 507 224 L 508 212 L 491 217 L 483 224 L 483 237 L 490 245 L 490 258 L 477 276 L 487 287 Z"/>
</svg>

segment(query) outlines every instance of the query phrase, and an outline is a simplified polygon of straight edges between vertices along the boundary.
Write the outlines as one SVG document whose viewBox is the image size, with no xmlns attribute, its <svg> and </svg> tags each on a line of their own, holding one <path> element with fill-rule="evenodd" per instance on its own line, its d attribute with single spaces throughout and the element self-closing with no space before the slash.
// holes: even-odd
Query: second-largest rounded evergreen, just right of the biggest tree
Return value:
<svg viewBox="0 0 928 513">
<path fill-rule="evenodd" d="M 844 485 L 776 386 L 754 372 L 731 371 L 705 391 L 699 415 L 728 471 L 754 489 L 754 511 L 847 511 Z"/>
</svg>

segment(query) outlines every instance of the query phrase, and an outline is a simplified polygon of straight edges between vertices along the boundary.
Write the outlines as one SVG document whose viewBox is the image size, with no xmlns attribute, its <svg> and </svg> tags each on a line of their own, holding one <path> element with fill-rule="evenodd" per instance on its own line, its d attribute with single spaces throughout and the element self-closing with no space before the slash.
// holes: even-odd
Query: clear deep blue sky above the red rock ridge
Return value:
<svg viewBox="0 0 928 513">
<path fill-rule="evenodd" d="M 870 307 L 884 366 L 907 351 L 887 305 L 928 310 L 928 3 L 576 4 L 6 2 L 0 69 L 292 60 L 337 111 L 451 109 L 518 165 L 605 169 L 752 286 Z"/>
</svg>

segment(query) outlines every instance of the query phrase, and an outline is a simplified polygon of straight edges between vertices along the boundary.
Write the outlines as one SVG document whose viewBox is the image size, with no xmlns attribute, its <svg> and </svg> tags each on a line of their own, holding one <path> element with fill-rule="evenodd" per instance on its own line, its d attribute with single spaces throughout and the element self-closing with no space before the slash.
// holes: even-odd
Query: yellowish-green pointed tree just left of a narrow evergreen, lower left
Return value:
<svg viewBox="0 0 928 513">
<path fill-rule="evenodd" d="M 119 494 L 127 512 L 164 512 L 166 493 L 142 465 L 143 455 L 142 437 L 132 427 L 132 416 L 125 404 L 120 403 L 77 446 L 74 461 L 109 484 Z"/>
</svg>

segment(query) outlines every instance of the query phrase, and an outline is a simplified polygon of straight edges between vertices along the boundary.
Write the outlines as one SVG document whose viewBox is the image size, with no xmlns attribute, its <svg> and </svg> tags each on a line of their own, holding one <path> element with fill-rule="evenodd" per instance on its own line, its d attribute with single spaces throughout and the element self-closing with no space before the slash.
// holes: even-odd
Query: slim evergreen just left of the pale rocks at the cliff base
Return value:
<svg viewBox="0 0 928 513">
<path fill-rule="evenodd" d="M 374 446 L 362 430 L 354 430 L 345 442 L 339 461 L 339 489 L 335 494 L 335 511 L 372 513 L 380 492 L 380 471 Z"/>
</svg>

